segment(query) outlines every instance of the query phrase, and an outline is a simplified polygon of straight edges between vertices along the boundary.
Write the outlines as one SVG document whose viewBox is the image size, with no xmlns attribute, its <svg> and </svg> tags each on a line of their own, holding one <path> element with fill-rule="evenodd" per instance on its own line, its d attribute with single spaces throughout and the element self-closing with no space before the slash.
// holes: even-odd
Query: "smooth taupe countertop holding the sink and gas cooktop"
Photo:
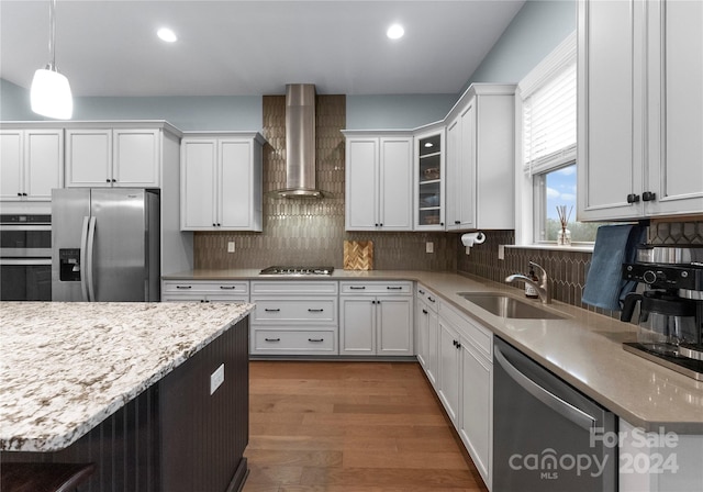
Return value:
<svg viewBox="0 0 703 492">
<path fill-rule="evenodd" d="M 522 289 L 449 272 L 335 269 L 330 277 L 263 277 L 258 272 L 193 270 L 164 279 L 417 281 L 631 424 L 647 431 L 662 426 L 667 432 L 703 434 L 703 382 L 625 351 L 622 343 L 637 339 L 633 324 L 556 301 L 546 309 L 559 312 L 563 320 L 495 316 L 457 292 L 503 292 L 524 299 Z"/>
</svg>

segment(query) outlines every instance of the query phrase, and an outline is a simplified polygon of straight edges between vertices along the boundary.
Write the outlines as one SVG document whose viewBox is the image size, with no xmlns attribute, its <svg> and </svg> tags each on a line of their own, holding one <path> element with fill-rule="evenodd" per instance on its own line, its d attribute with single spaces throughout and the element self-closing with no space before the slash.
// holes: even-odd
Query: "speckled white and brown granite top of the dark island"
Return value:
<svg viewBox="0 0 703 492">
<path fill-rule="evenodd" d="M 0 303 L 0 450 L 63 449 L 252 304 Z"/>
</svg>

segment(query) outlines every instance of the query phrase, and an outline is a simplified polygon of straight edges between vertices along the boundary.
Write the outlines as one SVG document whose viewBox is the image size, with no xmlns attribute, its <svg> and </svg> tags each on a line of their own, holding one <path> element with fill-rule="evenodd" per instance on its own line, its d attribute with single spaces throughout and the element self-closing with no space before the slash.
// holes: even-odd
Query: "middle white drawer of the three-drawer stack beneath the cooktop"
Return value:
<svg viewBox="0 0 703 492">
<path fill-rule="evenodd" d="M 256 304 L 253 323 L 337 323 L 337 299 L 261 299 Z"/>
</svg>

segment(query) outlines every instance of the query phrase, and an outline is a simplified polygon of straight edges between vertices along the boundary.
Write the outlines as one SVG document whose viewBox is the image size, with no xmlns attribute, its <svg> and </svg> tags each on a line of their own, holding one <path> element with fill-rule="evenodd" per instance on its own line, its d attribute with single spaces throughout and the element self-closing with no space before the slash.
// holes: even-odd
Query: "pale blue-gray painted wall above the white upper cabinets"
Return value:
<svg viewBox="0 0 703 492">
<path fill-rule="evenodd" d="M 415 128 L 442 120 L 471 82 L 517 82 L 576 30 L 576 0 L 528 0 L 456 94 L 347 96 L 347 128 Z M 36 120 L 29 90 L 0 79 L 0 121 Z M 167 120 L 180 130 L 258 131 L 261 96 L 87 98 L 74 120 Z"/>
</svg>

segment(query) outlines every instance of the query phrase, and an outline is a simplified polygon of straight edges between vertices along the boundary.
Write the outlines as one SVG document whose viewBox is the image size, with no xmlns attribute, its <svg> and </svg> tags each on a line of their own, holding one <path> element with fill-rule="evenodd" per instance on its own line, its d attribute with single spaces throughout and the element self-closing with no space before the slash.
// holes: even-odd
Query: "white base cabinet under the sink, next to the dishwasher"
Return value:
<svg viewBox="0 0 703 492">
<path fill-rule="evenodd" d="M 436 391 L 481 478 L 491 488 L 493 334 L 439 302 Z"/>
</svg>

